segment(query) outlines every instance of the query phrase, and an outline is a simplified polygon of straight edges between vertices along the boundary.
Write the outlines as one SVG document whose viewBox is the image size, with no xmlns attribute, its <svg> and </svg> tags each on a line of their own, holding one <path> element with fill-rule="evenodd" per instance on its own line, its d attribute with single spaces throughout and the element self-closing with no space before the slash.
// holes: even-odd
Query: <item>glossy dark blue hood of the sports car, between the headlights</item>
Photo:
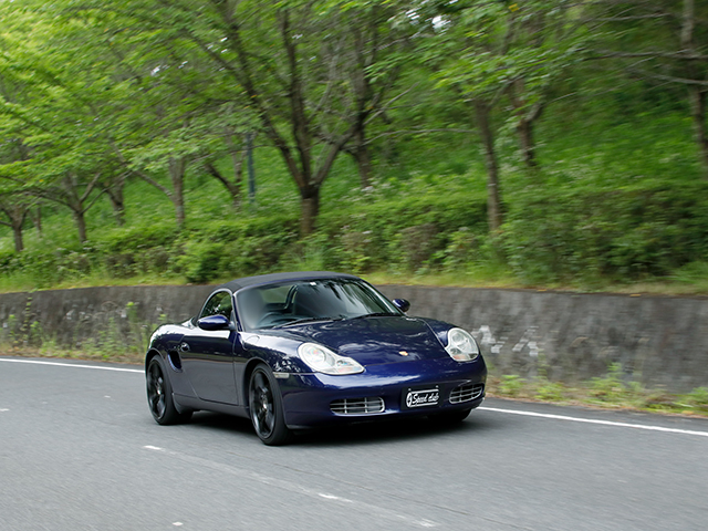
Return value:
<svg viewBox="0 0 708 531">
<path fill-rule="evenodd" d="M 447 356 L 436 334 L 421 319 L 372 316 L 327 321 L 269 331 L 324 345 L 362 365 L 435 360 Z"/>
</svg>

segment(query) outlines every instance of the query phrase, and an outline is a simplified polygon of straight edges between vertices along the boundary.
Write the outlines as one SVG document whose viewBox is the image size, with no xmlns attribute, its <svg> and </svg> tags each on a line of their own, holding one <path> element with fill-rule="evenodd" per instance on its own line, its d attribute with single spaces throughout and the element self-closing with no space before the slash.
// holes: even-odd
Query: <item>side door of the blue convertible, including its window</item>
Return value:
<svg viewBox="0 0 708 531">
<path fill-rule="evenodd" d="M 195 326 L 185 334 L 179 355 L 186 376 L 197 396 L 204 400 L 238 404 L 233 374 L 233 345 L 238 333 L 233 326 L 233 303 L 229 291 L 218 291 L 204 305 Z M 231 321 L 227 330 L 202 330 L 198 320 L 223 315 Z"/>
</svg>

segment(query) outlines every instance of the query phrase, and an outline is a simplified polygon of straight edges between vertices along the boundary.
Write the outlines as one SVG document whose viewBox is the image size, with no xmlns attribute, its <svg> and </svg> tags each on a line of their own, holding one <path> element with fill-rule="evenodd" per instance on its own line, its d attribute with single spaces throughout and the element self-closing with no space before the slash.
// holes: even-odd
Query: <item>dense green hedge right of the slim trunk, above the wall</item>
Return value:
<svg viewBox="0 0 708 531">
<path fill-rule="evenodd" d="M 529 187 L 504 227 L 512 268 L 528 282 L 667 275 L 708 251 L 708 183 Z"/>
</svg>

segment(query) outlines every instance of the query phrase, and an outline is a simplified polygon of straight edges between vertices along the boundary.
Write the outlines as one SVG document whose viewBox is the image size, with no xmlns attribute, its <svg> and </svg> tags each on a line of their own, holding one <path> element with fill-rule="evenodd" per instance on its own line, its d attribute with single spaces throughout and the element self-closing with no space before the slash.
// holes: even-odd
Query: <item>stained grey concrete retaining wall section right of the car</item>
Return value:
<svg viewBox="0 0 708 531">
<path fill-rule="evenodd" d="M 514 290 L 385 287 L 412 315 L 449 321 L 475 335 L 497 374 L 576 382 L 611 363 L 648 386 L 708 386 L 708 299 Z"/>
</svg>

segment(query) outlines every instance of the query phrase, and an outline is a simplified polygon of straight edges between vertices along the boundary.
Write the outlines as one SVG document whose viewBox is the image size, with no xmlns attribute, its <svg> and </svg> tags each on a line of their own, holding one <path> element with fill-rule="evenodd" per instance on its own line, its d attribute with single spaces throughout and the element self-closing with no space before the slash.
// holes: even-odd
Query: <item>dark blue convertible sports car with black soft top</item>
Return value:
<svg viewBox="0 0 708 531">
<path fill-rule="evenodd" d="M 408 306 L 350 274 L 228 282 L 199 315 L 153 334 L 150 412 L 159 424 L 199 409 L 249 417 L 267 445 L 340 421 L 460 421 L 485 397 L 479 346 L 451 324 L 407 316 Z"/>
</svg>

